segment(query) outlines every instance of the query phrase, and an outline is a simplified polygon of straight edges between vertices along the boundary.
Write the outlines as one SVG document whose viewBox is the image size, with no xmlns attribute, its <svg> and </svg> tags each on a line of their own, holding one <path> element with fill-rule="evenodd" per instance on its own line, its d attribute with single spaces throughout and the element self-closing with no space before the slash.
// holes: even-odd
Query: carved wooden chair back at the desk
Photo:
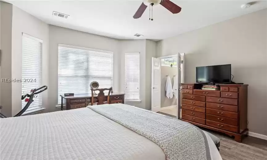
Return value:
<svg viewBox="0 0 267 160">
<path fill-rule="evenodd" d="M 98 90 L 99 93 L 96 97 L 96 102 L 94 102 L 94 91 Z M 108 94 L 107 94 L 107 97 L 105 97 L 105 94 L 104 94 L 104 91 L 105 90 L 109 90 L 108 91 Z M 94 103 L 96 103 L 97 105 L 101 105 L 101 104 L 109 104 L 110 101 L 109 101 L 109 96 L 110 96 L 110 92 L 112 90 L 112 87 L 110 88 L 101 88 L 101 89 L 93 89 L 91 88 L 91 93 L 92 93 L 92 98 L 91 98 L 91 106 L 94 105 Z"/>
</svg>

